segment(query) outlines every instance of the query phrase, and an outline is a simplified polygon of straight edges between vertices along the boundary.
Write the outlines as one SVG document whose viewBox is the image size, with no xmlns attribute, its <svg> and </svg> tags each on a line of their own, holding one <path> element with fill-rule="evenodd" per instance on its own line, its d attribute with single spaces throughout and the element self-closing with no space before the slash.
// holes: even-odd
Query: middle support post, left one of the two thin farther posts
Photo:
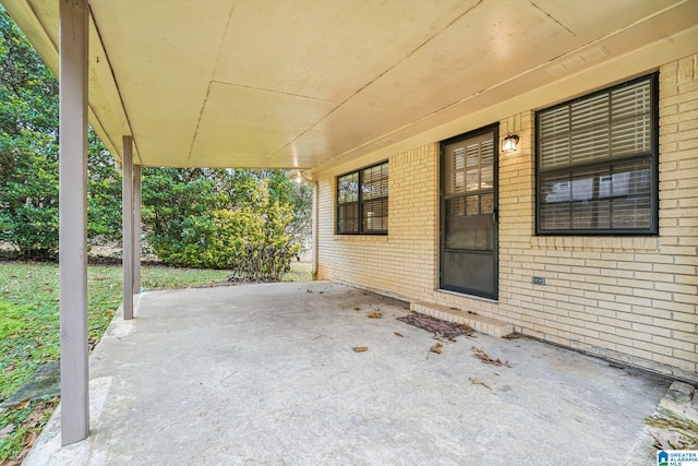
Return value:
<svg viewBox="0 0 698 466">
<path fill-rule="evenodd" d="M 123 319 L 133 319 L 133 141 L 123 136 L 121 199 L 123 202 Z"/>
</svg>

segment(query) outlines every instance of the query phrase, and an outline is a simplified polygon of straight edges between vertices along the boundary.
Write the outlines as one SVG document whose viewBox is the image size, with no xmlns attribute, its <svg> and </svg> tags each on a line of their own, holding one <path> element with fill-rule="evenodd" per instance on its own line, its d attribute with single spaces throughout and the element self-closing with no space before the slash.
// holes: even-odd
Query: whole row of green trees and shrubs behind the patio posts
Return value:
<svg viewBox="0 0 698 466">
<path fill-rule="evenodd" d="M 58 253 L 58 112 L 56 79 L 0 5 L 0 243 L 24 259 Z M 89 241 L 118 241 L 121 176 L 92 129 L 87 166 Z M 221 228 L 241 235 L 248 256 L 276 263 L 310 234 L 310 192 L 284 170 L 148 168 L 146 240 L 172 265 L 242 267 L 220 251 Z"/>
</svg>

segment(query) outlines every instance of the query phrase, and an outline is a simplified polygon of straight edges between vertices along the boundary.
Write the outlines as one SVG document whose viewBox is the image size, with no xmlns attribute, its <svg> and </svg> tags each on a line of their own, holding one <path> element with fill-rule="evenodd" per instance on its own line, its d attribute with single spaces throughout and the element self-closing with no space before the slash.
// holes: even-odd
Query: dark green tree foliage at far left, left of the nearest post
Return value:
<svg viewBox="0 0 698 466">
<path fill-rule="evenodd" d="M 58 84 L 0 9 L 0 242 L 58 252 Z"/>
</svg>

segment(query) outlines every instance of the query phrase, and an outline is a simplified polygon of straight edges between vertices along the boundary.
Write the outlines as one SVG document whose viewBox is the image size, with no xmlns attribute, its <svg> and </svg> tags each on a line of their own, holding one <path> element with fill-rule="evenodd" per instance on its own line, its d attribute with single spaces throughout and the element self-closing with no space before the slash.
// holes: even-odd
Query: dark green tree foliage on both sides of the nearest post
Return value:
<svg viewBox="0 0 698 466">
<path fill-rule="evenodd" d="M 23 259 L 58 253 L 58 82 L 0 7 L 0 242 Z M 88 236 L 121 237 L 121 177 L 88 132 Z"/>
</svg>

